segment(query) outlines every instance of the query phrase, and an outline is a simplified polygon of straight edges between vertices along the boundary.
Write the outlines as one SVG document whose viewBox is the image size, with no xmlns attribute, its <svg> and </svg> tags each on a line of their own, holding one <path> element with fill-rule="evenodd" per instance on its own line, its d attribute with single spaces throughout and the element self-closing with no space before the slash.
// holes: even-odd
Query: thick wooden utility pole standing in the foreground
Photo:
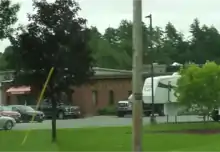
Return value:
<svg viewBox="0 0 220 152">
<path fill-rule="evenodd" d="M 133 0 L 133 152 L 142 152 L 142 58 L 143 58 L 143 33 L 142 33 L 142 0 Z"/>
</svg>

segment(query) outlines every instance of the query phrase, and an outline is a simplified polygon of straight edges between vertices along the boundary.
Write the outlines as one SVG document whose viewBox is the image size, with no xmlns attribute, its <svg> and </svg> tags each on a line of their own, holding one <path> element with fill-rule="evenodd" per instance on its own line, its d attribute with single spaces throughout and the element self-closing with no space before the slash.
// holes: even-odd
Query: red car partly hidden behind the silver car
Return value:
<svg viewBox="0 0 220 152">
<path fill-rule="evenodd" d="M 13 111 L 12 108 L 8 106 L 0 106 L 0 115 L 12 117 L 17 123 L 21 121 L 21 114 L 17 111 Z"/>
</svg>

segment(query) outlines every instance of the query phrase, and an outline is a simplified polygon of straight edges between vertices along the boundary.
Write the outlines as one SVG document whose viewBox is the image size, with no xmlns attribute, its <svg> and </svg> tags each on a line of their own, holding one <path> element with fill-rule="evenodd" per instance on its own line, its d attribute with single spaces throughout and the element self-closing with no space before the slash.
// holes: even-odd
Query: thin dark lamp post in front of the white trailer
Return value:
<svg viewBox="0 0 220 152">
<path fill-rule="evenodd" d="M 145 18 L 149 18 L 150 19 L 150 51 L 153 51 L 153 27 L 152 27 L 152 14 L 146 16 Z M 150 117 L 150 121 L 151 123 L 155 123 L 156 122 L 156 118 L 154 115 L 154 61 L 153 61 L 153 56 L 151 57 L 151 98 L 152 98 L 152 114 Z"/>
</svg>

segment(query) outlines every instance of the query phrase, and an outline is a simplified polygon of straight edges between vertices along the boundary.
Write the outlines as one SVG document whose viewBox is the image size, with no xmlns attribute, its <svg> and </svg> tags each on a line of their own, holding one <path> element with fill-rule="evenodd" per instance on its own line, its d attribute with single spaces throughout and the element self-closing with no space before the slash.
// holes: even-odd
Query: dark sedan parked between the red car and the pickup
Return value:
<svg viewBox="0 0 220 152">
<path fill-rule="evenodd" d="M 30 106 L 25 105 L 10 105 L 13 111 L 17 111 L 21 114 L 21 120 L 23 122 L 30 122 L 32 117 L 35 115 L 33 121 L 43 122 L 44 121 L 44 113 L 41 111 L 34 110 Z"/>
</svg>

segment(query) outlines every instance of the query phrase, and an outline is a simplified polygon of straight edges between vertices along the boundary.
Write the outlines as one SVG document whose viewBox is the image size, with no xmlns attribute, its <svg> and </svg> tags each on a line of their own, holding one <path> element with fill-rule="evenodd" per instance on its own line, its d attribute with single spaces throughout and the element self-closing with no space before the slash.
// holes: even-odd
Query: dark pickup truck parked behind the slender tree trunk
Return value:
<svg viewBox="0 0 220 152">
<path fill-rule="evenodd" d="M 36 109 L 36 106 L 32 106 Z M 43 111 L 45 114 L 45 117 L 52 117 L 53 109 L 52 109 L 52 103 L 45 99 L 41 102 L 38 110 Z M 57 118 L 58 119 L 64 119 L 64 118 L 79 118 L 81 117 L 80 108 L 78 106 L 72 106 L 72 105 L 66 105 L 62 102 L 57 102 Z"/>
</svg>

